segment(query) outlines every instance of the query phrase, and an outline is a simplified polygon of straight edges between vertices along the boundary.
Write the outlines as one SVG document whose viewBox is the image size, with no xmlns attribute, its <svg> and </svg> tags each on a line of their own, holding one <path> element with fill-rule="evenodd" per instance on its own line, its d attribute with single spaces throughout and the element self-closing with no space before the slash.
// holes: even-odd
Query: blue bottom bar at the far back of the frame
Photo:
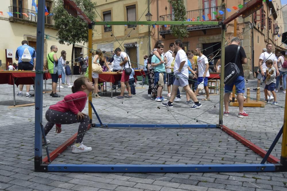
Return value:
<svg viewBox="0 0 287 191">
<path fill-rule="evenodd" d="M 131 127 L 131 128 L 217 128 L 213 124 L 95 124 L 95 127 Z"/>
</svg>

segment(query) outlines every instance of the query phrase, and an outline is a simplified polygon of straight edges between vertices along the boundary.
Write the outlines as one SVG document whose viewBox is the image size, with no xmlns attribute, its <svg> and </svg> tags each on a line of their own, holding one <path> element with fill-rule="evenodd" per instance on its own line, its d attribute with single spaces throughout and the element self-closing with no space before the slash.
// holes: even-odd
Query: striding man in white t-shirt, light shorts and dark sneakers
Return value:
<svg viewBox="0 0 287 191">
<path fill-rule="evenodd" d="M 190 109 L 197 109 L 201 107 L 201 104 L 197 100 L 194 92 L 191 90 L 191 88 L 188 85 L 188 65 L 187 65 L 187 56 L 185 54 L 185 51 L 182 49 L 182 41 L 180 39 L 175 40 L 174 42 L 174 51 L 177 51 L 177 55 L 175 57 L 175 63 L 174 63 L 174 75 L 176 76 L 176 79 L 174 80 L 174 83 L 172 85 L 170 100 L 166 103 L 162 103 L 165 107 L 173 107 L 173 100 L 177 93 L 177 88 L 179 86 L 183 87 L 185 92 L 189 94 L 191 99 L 194 101 L 193 106 L 189 107 Z"/>
</svg>

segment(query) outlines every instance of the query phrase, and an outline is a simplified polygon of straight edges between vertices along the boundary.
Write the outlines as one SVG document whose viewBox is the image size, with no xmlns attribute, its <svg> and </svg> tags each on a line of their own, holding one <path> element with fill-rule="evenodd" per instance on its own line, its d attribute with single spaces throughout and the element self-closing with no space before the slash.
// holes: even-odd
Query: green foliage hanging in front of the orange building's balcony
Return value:
<svg viewBox="0 0 287 191">
<path fill-rule="evenodd" d="M 168 3 L 174 9 L 174 21 L 186 21 L 186 9 L 183 0 L 168 0 Z M 185 25 L 171 25 L 170 26 L 172 35 L 183 39 L 183 37 L 188 37 L 187 26 Z"/>
</svg>

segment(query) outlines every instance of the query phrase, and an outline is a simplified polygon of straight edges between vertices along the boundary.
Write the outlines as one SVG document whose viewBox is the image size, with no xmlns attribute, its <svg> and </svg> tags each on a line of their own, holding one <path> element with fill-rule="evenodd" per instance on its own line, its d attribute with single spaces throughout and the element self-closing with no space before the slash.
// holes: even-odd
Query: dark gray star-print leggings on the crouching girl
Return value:
<svg viewBox="0 0 287 191">
<path fill-rule="evenodd" d="M 88 115 L 85 115 L 84 119 L 78 120 L 77 115 L 75 115 L 71 111 L 61 112 L 61 111 L 56 111 L 53 109 L 48 109 L 46 111 L 45 117 L 48 121 L 44 127 L 45 135 L 49 133 L 49 131 L 53 128 L 55 124 L 80 123 L 79 129 L 78 129 L 77 140 L 75 143 L 81 143 L 83 141 L 85 132 L 87 131 L 87 128 L 90 122 L 90 117 Z"/>
</svg>

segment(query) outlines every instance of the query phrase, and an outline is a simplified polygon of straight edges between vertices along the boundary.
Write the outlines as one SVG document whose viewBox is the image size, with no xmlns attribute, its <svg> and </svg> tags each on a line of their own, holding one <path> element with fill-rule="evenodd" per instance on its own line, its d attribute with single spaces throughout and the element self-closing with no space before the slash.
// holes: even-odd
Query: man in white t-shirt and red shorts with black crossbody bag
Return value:
<svg viewBox="0 0 287 191">
<path fill-rule="evenodd" d="M 131 87 L 129 86 L 129 75 L 125 74 L 125 68 L 131 68 L 131 60 L 129 59 L 129 56 L 127 53 L 122 52 L 120 48 L 117 48 L 115 50 L 116 55 L 122 59 L 123 61 L 120 63 L 120 66 L 123 67 L 123 73 L 121 77 L 121 94 L 117 97 L 114 97 L 115 99 L 123 99 L 124 98 L 124 92 L 125 92 L 125 86 L 127 87 L 127 91 L 129 94 L 126 96 L 126 98 L 131 98 Z M 115 64 L 114 64 L 115 67 Z"/>
</svg>

